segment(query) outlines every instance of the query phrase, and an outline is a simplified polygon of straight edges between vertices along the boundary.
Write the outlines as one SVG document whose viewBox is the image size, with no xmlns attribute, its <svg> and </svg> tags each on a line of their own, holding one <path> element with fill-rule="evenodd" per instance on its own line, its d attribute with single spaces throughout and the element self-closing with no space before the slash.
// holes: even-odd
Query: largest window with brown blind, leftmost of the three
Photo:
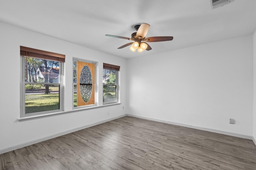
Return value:
<svg viewBox="0 0 256 170">
<path fill-rule="evenodd" d="M 65 55 L 20 46 L 21 117 L 63 111 Z"/>
</svg>

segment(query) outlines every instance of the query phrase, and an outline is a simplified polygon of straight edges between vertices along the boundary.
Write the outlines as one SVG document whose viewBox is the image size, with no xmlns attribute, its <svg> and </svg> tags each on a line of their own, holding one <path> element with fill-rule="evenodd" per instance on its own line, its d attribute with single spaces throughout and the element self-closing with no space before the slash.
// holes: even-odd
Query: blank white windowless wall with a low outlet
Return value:
<svg viewBox="0 0 256 170">
<path fill-rule="evenodd" d="M 129 59 L 128 115 L 252 139 L 252 41 L 248 35 Z"/>
</svg>

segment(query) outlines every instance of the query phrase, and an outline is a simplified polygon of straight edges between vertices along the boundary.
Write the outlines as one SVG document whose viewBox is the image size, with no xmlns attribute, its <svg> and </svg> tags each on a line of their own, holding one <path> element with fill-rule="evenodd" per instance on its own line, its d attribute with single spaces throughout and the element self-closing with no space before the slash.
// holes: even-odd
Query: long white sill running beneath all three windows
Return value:
<svg viewBox="0 0 256 170">
<path fill-rule="evenodd" d="M 25 120 L 29 120 L 29 119 L 38 119 L 38 118 L 41 118 L 41 117 L 50 117 L 50 116 L 55 116 L 55 115 L 60 115 L 60 114 L 73 113 L 73 112 L 76 112 L 76 111 L 82 111 L 82 110 L 88 110 L 88 109 L 94 109 L 94 108 L 106 107 L 106 106 L 113 106 L 113 105 L 119 105 L 119 104 L 122 104 L 122 103 L 104 104 L 102 106 L 77 108 L 77 109 L 73 109 L 73 110 L 69 110 L 69 111 L 60 111 L 60 112 L 56 112 L 56 113 L 46 113 L 46 114 L 42 114 L 42 115 L 29 115 L 29 116 L 20 117 L 17 120 L 18 121 L 25 121 Z"/>
</svg>

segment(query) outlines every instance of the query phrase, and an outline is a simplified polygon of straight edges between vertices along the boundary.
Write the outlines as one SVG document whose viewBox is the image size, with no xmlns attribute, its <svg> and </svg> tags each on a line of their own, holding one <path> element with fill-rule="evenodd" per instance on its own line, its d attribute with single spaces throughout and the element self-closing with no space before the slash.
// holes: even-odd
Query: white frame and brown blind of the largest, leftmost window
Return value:
<svg viewBox="0 0 256 170">
<path fill-rule="evenodd" d="M 59 82 L 26 82 L 25 81 L 26 68 L 24 64 L 26 57 L 31 57 L 35 59 L 45 59 L 48 61 L 58 61 L 59 62 Z M 20 117 L 34 117 L 38 115 L 48 115 L 48 114 L 60 113 L 64 111 L 64 62 L 65 62 L 65 55 L 20 46 L 20 68 L 22 69 L 20 71 L 20 74 L 21 74 L 20 75 L 20 92 L 21 92 L 20 93 L 20 101 L 21 101 Z M 25 110 L 26 84 L 58 85 L 59 86 L 59 109 L 50 110 L 50 111 L 40 111 L 40 112 L 34 112 L 34 113 L 26 113 L 26 110 Z"/>
</svg>

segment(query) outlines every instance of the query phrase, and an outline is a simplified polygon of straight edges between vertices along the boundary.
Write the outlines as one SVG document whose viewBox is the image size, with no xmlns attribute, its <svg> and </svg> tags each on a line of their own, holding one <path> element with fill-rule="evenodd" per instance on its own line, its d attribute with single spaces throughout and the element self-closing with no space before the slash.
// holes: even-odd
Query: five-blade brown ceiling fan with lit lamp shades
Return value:
<svg viewBox="0 0 256 170">
<path fill-rule="evenodd" d="M 160 41 L 171 41 L 173 39 L 173 37 L 171 36 L 163 36 L 163 37 L 147 37 L 146 35 L 148 33 L 148 29 L 149 29 L 150 25 L 147 23 L 142 23 L 141 25 L 135 25 L 134 29 L 137 31 L 135 33 L 132 33 L 132 38 L 128 38 L 128 37 L 121 37 L 121 36 L 117 36 L 117 35 L 108 35 L 106 34 L 106 36 L 108 37 L 114 37 L 114 38 L 122 38 L 122 39 L 128 39 L 130 41 L 134 41 L 131 43 L 127 43 L 125 45 L 122 45 L 121 47 L 118 47 L 118 49 L 122 49 L 124 47 L 127 47 L 129 45 L 132 45 L 130 47 L 130 50 L 135 52 L 136 49 L 138 49 L 138 52 L 142 52 L 144 50 L 151 50 L 152 48 L 150 47 L 150 45 L 148 45 L 148 43 L 146 42 L 160 42 Z M 145 41 L 145 42 L 142 42 Z"/>
</svg>

